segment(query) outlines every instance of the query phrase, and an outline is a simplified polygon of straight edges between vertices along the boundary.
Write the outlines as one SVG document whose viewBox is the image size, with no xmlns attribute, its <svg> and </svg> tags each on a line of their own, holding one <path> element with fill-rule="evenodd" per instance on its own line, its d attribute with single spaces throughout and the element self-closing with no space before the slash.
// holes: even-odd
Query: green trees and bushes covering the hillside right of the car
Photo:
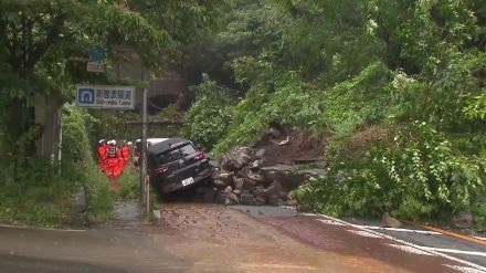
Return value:
<svg viewBox="0 0 486 273">
<path fill-rule="evenodd" d="M 303 207 L 415 220 L 469 210 L 485 224 L 484 1 L 236 7 L 213 44 L 244 96 L 220 103 L 228 128 L 194 128 L 203 99 L 188 115 L 198 138 L 221 139 L 213 153 L 256 140 L 273 120 L 326 133 L 328 175 L 300 187 Z"/>
</svg>

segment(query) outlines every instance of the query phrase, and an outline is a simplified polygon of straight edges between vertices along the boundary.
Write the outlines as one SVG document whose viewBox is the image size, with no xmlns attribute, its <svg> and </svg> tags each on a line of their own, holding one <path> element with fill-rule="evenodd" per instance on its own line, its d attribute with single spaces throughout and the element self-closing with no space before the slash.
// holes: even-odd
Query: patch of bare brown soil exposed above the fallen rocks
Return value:
<svg viewBox="0 0 486 273">
<path fill-rule="evenodd" d="M 286 145 L 278 145 L 287 139 Z M 302 162 L 323 161 L 324 148 L 327 145 L 327 137 L 316 137 L 307 130 L 284 130 L 281 137 L 272 138 L 264 135 L 255 144 L 256 149 L 265 149 L 263 166 L 294 165 Z"/>
</svg>

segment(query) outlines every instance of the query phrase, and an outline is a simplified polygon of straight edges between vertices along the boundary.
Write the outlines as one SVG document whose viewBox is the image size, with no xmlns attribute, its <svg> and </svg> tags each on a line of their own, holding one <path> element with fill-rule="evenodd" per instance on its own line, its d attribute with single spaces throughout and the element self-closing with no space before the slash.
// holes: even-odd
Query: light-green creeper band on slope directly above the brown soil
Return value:
<svg viewBox="0 0 486 273">
<path fill-rule="evenodd" d="M 231 108 L 228 135 L 215 146 L 224 153 L 256 140 L 272 120 L 306 128 L 316 134 L 334 130 L 336 140 L 349 136 L 361 125 L 379 120 L 387 109 L 388 70 L 373 63 L 356 77 L 321 91 L 305 84 L 296 73 L 276 77 L 272 86 L 254 85 L 246 97 Z M 367 90 L 367 92 L 363 92 Z M 251 113 L 251 115 L 249 115 Z"/>
</svg>

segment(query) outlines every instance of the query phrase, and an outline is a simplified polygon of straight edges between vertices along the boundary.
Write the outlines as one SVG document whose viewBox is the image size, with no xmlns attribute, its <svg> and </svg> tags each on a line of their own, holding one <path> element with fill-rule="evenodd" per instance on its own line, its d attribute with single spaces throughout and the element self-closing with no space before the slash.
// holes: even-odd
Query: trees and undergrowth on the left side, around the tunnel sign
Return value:
<svg viewBox="0 0 486 273">
<path fill-rule="evenodd" d="M 76 83 L 119 82 L 113 67 L 127 52 L 138 56 L 138 65 L 160 75 L 180 59 L 182 46 L 207 33 L 224 6 L 224 0 L 1 1 L 0 220 L 64 224 L 81 186 L 87 192 L 89 220 L 108 219 L 113 197 L 94 162 L 93 144 L 102 137 L 131 140 L 138 128 L 125 130 L 125 120 L 114 113 L 101 122 L 93 113 L 67 105 L 63 160 L 56 162 L 36 155 L 35 140 L 43 134 L 35 124 L 36 112 L 71 102 Z M 78 61 L 95 45 L 106 49 L 107 73 L 80 69 Z M 110 120 L 116 133 L 106 126 Z"/>
</svg>

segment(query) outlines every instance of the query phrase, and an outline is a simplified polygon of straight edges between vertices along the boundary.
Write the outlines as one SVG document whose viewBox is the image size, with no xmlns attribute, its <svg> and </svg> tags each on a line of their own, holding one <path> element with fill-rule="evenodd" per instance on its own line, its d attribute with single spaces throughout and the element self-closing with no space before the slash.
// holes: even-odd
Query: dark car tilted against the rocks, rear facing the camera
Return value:
<svg viewBox="0 0 486 273">
<path fill-rule="evenodd" d="M 175 137 L 147 148 L 150 182 L 169 193 L 200 183 L 212 176 L 209 158 L 184 138 Z"/>
</svg>

